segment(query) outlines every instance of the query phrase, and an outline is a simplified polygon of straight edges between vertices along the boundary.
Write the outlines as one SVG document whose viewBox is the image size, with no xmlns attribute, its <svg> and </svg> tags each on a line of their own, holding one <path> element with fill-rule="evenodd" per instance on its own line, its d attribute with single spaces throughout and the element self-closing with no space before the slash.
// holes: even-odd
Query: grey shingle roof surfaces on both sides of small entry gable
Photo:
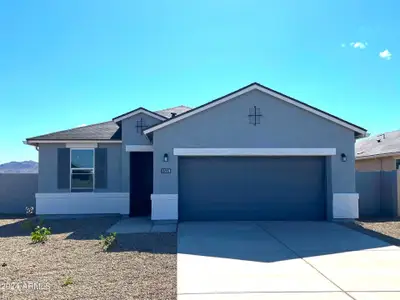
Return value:
<svg viewBox="0 0 400 300">
<path fill-rule="evenodd" d="M 171 118 L 171 113 L 177 115 L 190 110 L 187 106 L 176 106 L 155 113 L 166 118 Z M 121 140 L 121 128 L 113 121 L 107 121 L 88 126 L 81 126 L 67 130 L 57 131 L 49 134 L 27 138 L 27 141 L 34 142 L 35 140 Z"/>
</svg>

